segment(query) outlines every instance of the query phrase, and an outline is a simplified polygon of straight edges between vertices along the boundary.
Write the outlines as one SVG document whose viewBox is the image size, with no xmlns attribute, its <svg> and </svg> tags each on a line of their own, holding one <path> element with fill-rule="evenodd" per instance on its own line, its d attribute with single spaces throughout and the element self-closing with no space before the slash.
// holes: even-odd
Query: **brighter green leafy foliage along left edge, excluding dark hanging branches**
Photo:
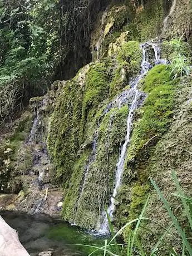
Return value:
<svg viewBox="0 0 192 256">
<path fill-rule="evenodd" d="M 0 121 L 47 87 L 46 58 L 32 52 L 37 35 L 44 33 L 33 21 L 32 8 L 31 1 L 0 1 Z"/>
</svg>

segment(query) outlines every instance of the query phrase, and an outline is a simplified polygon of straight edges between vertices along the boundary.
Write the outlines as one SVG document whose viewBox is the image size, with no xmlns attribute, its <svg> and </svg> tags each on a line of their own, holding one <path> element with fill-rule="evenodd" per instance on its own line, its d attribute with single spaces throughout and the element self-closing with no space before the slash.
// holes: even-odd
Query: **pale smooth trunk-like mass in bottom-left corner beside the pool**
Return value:
<svg viewBox="0 0 192 256">
<path fill-rule="evenodd" d="M 18 239 L 16 230 L 0 216 L 0 255 L 1 256 L 30 256 Z"/>
</svg>

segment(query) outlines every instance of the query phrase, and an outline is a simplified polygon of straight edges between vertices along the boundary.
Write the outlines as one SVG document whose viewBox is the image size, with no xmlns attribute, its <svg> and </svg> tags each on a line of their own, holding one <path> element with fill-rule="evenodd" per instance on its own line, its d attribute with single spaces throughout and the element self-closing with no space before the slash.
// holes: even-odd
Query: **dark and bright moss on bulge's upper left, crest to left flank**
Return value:
<svg viewBox="0 0 192 256">
<path fill-rule="evenodd" d="M 92 137 L 94 116 L 109 95 L 106 63 L 88 67 L 83 83 L 82 72 L 67 82 L 63 93 L 58 96 L 48 135 L 48 151 L 57 166 L 57 176 L 63 183 L 73 173 L 80 146 Z"/>
</svg>

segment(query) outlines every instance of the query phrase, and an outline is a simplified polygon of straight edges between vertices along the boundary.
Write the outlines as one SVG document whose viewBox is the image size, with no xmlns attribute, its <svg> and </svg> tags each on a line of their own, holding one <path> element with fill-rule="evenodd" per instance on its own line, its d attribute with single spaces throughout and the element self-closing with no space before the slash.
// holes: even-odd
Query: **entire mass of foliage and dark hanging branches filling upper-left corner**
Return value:
<svg viewBox="0 0 192 256">
<path fill-rule="evenodd" d="M 73 76 L 84 64 L 78 65 L 77 47 L 89 37 L 91 8 L 99 11 L 95 1 L 0 0 L 0 121 L 29 97 L 45 93 L 50 80 L 63 78 L 63 70 Z M 75 52 L 80 57 L 70 73 L 63 67 Z"/>
</svg>

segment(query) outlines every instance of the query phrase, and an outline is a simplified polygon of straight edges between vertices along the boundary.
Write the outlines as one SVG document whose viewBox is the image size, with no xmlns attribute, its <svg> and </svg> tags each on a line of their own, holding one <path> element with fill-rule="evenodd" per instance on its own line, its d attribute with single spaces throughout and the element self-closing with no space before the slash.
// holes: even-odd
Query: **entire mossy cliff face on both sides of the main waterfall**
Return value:
<svg viewBox="0 0 192 256">
<path fill-rule="evenodd" d="M 92 33 L 95 62 L 67 81 L 56 97 L 48 152 L 56 165 L 57 183 L 64 188 L 62 216 L 70 223 L 97 228 L 102 221 L 104 205 L 109 204 L 114 189 L 116 164 L 120 145 L 125 141 L 131 102 L 128 100 L 119 109 L 114 99 L 129 90 L 130 78 L 140 71 L 140 42 L 162 35 L 163 21 L 170 7 L 171 2 L 158 0 L 146 1 L 144 6 L 132 6 L 126 1 L 107 8 Z M 176 28 L 174 17 L 173 12 L 170 20 Z M 164 31 L 168 38 L 169 22 Z M 169 41 L 165 41 L 161 49 L 162 56 L 171 61 L 175 50 Z M 185 53 L 190 52 L 185 43 L 183 49 Z M 150 53 L 150 59 L 152 63 L 154 52 Z M 156 175 L 155 152 L 169 133 L 175 112 L 179 111 L 176 101 L 179 86 L 178 80 L 171 80 L 170 67 L 166 65 L 153 67 L 139 85 L 147 97 L 134 117 L 117 195 L 120 201 L 114 219 L 117 228 L 140 213 L 147 194 L 151 193 L 148 178 Z M 127 230 L 124 235 L 126 237 Z"/>
</svg>

